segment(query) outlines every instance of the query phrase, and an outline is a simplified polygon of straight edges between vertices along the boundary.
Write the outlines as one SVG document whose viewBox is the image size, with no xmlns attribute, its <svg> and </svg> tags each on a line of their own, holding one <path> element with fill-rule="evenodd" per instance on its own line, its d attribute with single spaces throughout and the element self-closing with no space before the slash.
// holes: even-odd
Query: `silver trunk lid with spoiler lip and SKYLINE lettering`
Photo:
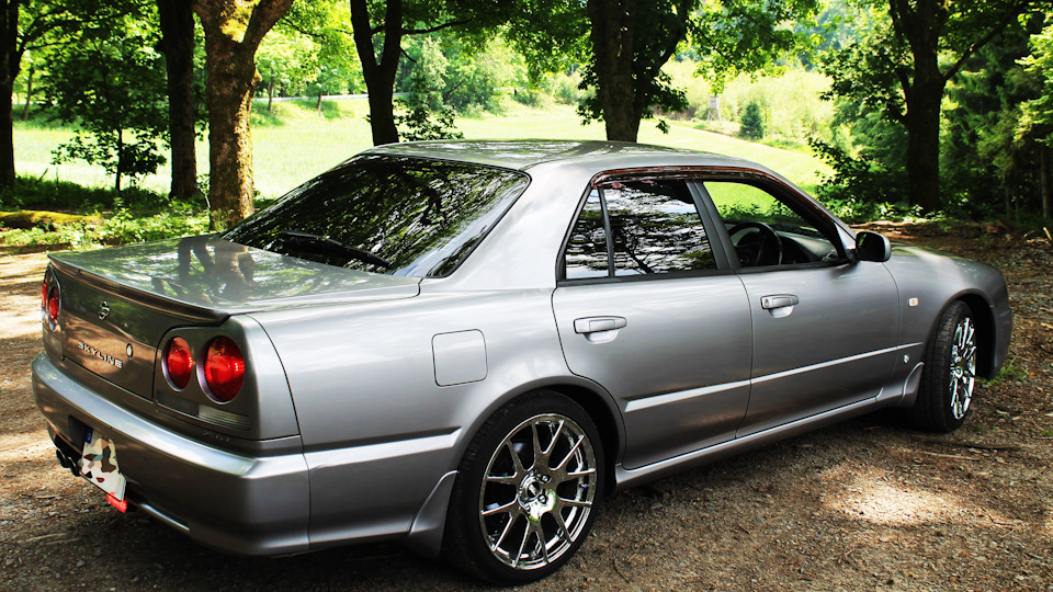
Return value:
<svg viewBox="0 0 1053 592">
<path fill-rule="evenodd" d="M 50 259 L 61 291 L 61 351 L 52 353 L 147 399 L 160 340 L 174 327 L 214 326 L 231 315 L 276 308 L 408 298 L 419 292 L 419 278 L 346 270 L 214 236 Z"/>
</svg>

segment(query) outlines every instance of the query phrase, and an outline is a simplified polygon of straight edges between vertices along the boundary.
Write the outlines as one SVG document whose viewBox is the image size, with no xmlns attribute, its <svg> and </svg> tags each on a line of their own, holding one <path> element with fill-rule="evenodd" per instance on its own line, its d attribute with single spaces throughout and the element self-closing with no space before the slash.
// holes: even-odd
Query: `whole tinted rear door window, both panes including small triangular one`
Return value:
<svg viewBox="0 0 1053 592">
<path fill-rule="evenodd" d="M 565 262 L 567 280 L 716 269 L 698 206 L 681 180 L 611 183 L 593 191 L 571 231 Z"/>
</svg>

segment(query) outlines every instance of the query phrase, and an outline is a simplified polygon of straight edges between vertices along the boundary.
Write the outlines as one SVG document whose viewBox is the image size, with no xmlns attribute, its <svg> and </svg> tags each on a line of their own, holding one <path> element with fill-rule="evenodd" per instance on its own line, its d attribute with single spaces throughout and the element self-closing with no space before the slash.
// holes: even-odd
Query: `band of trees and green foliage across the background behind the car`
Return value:
<svg viewBox="0 0 1053 592">
<path fill-rule="evenodd" d="M 117 193 L 169 162 L 169 197 L 204 192 L 212 227 L 224 228 L 254 208 L 253 99 L 309 95 L 321 110 L 327 95 L 366 93 L 373 143 L 387 144 L 457 137 L 455 116 L 500 113 L 509 101 L 573 104 L 608 139 L 635 141 L 642 119 L 713 127 L 709 100 L 722 95 L 721 129 L 739 124 L 744 137 L 815 150 L 830 164 L 816 190 L 827 202 L 875 215 L 898 204 L 1017 224 L 1051 217 L 1049 0 L 0 8 L 0 187 L 24 181 L 15 119 L 57 121 L 76 134 L 55 162 L 102 164 Z M 807 106 L 736 96 L 744 80 L 763 79 L 794 84 Z M 194 151 L 201 134 L 207 164 Z"/>
</svg>

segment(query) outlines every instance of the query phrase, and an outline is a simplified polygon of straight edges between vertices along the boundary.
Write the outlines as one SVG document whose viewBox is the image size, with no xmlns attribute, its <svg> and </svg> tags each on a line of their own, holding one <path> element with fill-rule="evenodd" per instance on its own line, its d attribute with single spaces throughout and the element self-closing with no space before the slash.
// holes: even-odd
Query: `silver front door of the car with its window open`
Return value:
<svg viewBox="0 0 1053 592">
<path fill-rule="evenodd" d="M 738 254 L 752 319 L 751 390 L 737 435 L 878 397 L 899 329 L 885 266 L 850 259 L 833 220 L 771 180 L 702 187 L 723 220 L 715 236 Z"/>
</svg>

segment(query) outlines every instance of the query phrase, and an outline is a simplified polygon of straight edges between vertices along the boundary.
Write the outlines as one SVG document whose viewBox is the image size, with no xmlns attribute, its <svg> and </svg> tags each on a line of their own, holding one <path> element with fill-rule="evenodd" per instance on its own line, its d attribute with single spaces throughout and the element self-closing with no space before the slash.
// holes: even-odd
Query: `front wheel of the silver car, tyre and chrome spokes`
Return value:
<svg viewBox="0 0 1053 592">
<path fill-rule="evenodd" d="M 953 432 L 965 421 L 976 384 L 976 325 L 964 303 L 943 310 L 926 350 L 918 399 L 909 411 L 920 428 Z"/>
</svg>

